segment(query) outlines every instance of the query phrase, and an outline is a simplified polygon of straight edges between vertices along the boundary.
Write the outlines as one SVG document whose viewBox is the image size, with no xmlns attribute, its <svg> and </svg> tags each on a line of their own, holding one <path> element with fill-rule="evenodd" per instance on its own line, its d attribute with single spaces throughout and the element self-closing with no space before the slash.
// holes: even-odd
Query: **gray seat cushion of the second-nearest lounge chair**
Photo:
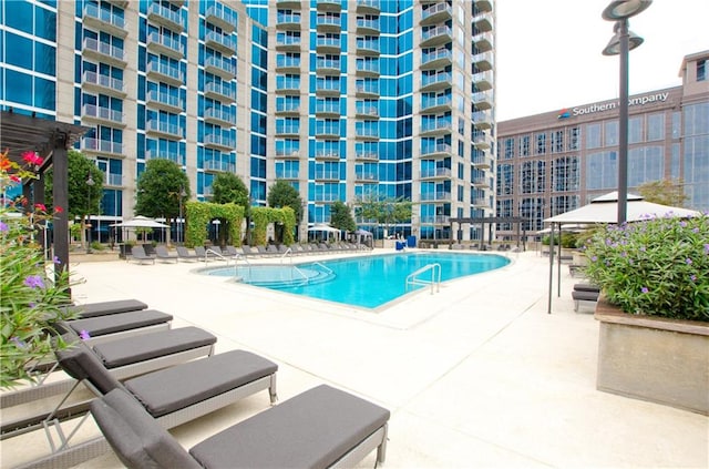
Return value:
<svg viewBox="0 0 709 469">
<path fill-rule="evenodd" d="M 266 358 L 232 350 L 138 376 L 124 386 L 153 417 L 161 417 L 277 370 L 278 365 Z"/>
</svg>

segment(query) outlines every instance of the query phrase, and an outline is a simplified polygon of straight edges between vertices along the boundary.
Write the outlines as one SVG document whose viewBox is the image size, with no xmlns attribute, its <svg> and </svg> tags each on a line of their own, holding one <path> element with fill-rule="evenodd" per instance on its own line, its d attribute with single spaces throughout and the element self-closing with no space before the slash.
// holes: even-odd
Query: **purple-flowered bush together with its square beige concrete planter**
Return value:
<svg viewBox="0 0 709 469">
<path fill-rule="evenodd" d="M 709 216 L 599 230 L 598 389 L 709 415 Z"/>
</svg>

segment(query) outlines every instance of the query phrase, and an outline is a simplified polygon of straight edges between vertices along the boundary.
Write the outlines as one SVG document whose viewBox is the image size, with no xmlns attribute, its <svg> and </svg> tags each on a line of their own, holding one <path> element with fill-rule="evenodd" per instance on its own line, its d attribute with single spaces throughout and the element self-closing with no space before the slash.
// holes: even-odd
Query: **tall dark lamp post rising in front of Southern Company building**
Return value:
<svg viewBox="0 0 709 469">
<path fill-rule="evenodd" d="M 619 55 L 620 115 L 618 116 L 618 225 L 627 220 L 628 208 L 628 52 L 643 43 L 643 38 L 628 30 L 628 19 L 647 9 L 653 0 L 614 0 L 602 17 L 615 21 L 615 35 L 603 50 L 604 55 Z"/>
</svg>

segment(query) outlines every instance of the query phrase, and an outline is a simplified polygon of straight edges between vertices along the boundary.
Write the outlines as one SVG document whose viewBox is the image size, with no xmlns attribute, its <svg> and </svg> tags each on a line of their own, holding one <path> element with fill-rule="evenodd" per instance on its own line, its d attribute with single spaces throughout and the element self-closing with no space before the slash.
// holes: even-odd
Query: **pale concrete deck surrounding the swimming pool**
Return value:
<svg viewBox="0 0 709 469">
<path fill-rule="evenodd" d="M 598 324 L 589 306 L 573 310 L 578 278 L 562 271 L 549 315 L 548 258 L 508 256 L 380 313 L 196 275 L 197 263 L 82 263 L 73 294 L 137 298 L 173 314 L 173 327 L 215 334 L 217 353 L 276 361 L 280 400 L 329 384 L 387 407 L 387 468 L 709 467 L 709 418 L 596 390 Z M 267 407 L 257 394 L 172 432 L 188 448 Z M 4 440 L 1 467 L 45 447 L 43 435 Z M 373 455 L 360 466 L 373 467 Z M 81 467 L 122 466 L 110 453 Z"/>
</svg>

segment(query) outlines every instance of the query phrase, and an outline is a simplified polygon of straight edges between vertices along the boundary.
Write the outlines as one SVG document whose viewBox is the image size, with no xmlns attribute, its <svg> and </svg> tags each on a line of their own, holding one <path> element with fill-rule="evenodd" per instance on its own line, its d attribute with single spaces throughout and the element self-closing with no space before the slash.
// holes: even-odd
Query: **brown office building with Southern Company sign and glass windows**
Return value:
<svg viewBox="0 0 709 469">
<path fill-rule="evenodd" d="M 709 210 L 709 51 L 682 61 L 682 84 L 629 98 L 628 190 L 681 180 L 688 207 Z M 496 215 L 523 228 L 618 187 L 618 100 L 499 123 Z M 511 238 L 514 226 L 497 225 Z"/>
</svg>

